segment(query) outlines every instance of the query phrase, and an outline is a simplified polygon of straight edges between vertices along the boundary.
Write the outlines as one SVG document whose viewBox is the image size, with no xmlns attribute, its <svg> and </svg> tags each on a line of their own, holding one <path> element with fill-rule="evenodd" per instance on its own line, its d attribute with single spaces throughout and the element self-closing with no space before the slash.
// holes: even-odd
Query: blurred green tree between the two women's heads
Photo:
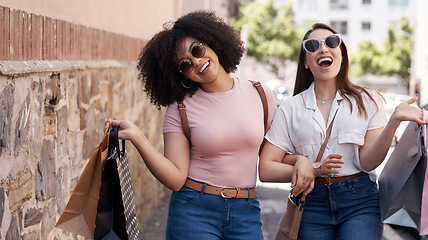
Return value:
<svg viewBox="0 0 428 240">
<path fill-rule="evenodd" d="M 297 61 L 303 31 L 293 21 L 289 5 L 275 6 L 273 0 L 253 1 L 241 5 L 240 14 L 232 18 L 234 28 L 248 29 L 247 54 L 269 64 L 279 77 L 287 60 Z"/>
</svg>

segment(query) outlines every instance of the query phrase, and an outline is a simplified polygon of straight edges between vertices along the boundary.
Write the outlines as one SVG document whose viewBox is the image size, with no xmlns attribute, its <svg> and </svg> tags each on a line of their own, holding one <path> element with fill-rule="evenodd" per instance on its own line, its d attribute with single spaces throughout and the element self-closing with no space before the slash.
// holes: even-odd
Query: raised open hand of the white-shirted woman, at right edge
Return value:
<svg viewBox="0 0 428 240">
<path fill-rule="evenodd" d="M 427 124 L 428 120 L 422 121 L 422 109 L 411 105 L 417 100 L 417 97 L 413 97 L 400 103 L 392 113 L 391 120 L 396 121 L 398 124 L 401 121 L 414 121 L 420 125 Z"/>
</svg>

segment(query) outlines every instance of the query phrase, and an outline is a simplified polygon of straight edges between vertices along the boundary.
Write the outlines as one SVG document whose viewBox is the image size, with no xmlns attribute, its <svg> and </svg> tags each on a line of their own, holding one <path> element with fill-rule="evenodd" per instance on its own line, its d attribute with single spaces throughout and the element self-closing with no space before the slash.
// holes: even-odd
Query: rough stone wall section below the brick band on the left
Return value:
<svg viewBox="0 0 428 240">
<path fill-rule="evenodd" d="M 129 119 L 163 152 L 163 110 L 134 62 L 0 61 L 0 239 L 83 239 L 55 228 L 106 118 Z M 127 144 L 140 223 L 165 194 Z"/>
</svg>

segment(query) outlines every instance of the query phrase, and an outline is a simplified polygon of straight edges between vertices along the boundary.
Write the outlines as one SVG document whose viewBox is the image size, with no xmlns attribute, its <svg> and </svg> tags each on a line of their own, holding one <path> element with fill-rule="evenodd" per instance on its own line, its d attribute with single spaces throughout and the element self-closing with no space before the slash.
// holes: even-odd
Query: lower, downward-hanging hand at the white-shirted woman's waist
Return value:
<svg viewBox="0 0 428 240">
<path fill-rule="evenodd" d="M 291 175 L 291 193 L 294 196 L 308 195 L 314 189 L 315 176 L 312 163 L 307 157 L 299 157 L 294 164 Z"/>
</svg>

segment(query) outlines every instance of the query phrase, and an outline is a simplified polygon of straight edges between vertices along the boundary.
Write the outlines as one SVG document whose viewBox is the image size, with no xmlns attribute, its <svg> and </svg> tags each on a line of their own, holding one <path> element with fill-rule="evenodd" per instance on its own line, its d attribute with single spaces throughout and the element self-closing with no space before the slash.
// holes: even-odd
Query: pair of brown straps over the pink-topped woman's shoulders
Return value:
<svg viewBox="0 0 428 240">
<path fill-rule="evenodd" d="M 249 80 L 249 81 L 257 89 L 257 92 L 259 93 L 260 99 L 262 101 L 263 121 L 264 121 L 265 134 L 266 134 L 266 132 L 267 132 L 267 121 L 268 121 L 268 106 L 267 106 L 266 94 L 265 94 L 265 91 L 263 89 L 262 84 L 259 81 L 251 81 L 251 80 Z M 178 111 L 180 112 L 181 125 L 183 127 L 184 135 L 186 136 L 187 140 L 189 141 L 189 144 L 192 145 L 192 141 L 190 138 L 189 122 L 187 121 L 186 105 L 183 103 L 183 100 L 177 101 L 177 103 L 178 103 Z"/>
</svg>

